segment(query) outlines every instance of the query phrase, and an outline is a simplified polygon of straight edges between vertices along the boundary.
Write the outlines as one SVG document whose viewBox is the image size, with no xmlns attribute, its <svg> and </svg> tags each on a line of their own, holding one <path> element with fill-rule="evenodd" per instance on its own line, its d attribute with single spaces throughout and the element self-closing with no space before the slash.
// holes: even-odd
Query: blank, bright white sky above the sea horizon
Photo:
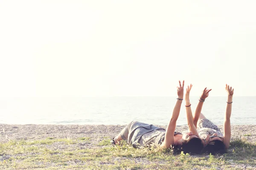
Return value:
<svg viewBox="0 0 256 170">
<path fill-rule="evenodd" d="M 255 5 L 1 0 L 0 96 L 256 96 Z"/>
</svg>

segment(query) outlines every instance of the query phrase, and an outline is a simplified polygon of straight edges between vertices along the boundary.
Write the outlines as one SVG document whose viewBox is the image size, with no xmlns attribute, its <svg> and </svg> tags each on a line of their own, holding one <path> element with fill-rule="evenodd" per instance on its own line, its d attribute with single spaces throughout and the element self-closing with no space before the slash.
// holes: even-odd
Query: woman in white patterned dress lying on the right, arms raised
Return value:
<svg viewBox="0 0 256 170">
<path fill-rule="evenodd" d="M 209 90 L 210 91 L 210 90 Z M 218 126 L 214 125 L 209 119 L 207 119 L 202 113 L 202 107 L 205 99 L 208 97 L 209 91 L 204 89 L 198 105 L 193 115 L 194 125 L 197 127 L 200 138 L 204 141 L 203 153 L 211 153 L 215 155 L 217 153 L 226 153 L 230 146 L 231 127 L 230 116 L 232 111 L 233 94 L 234 89 L 226 84 L 227 91 L 227 104 L 226 112 L 224 114 L 223 134 Z"/>
</svg>

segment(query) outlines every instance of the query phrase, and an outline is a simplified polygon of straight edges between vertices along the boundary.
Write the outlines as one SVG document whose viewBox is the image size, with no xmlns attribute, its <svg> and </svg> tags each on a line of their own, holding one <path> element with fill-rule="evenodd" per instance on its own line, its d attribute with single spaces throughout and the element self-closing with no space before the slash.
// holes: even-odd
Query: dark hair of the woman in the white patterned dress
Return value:
<svg viewBox="0 0 256 170">
<path fill-rule="evenodd" d="M 212 142 L 207 144 L 206 147 L 204 147 L 204 149 L 202 150 L 202 153 L 216 155 L 218 153 L 220 154 L 227 153 L 227 150 L 222 141 L 213 140 Z"/>
</svg>

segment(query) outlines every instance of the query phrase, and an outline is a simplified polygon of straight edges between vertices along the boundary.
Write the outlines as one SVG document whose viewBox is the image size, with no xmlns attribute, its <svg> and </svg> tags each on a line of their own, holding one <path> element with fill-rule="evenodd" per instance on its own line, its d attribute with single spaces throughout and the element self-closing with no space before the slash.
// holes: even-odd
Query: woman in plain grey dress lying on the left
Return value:
<svg viewBox="0 0 256 170">
<path fill-rule="evenodd" d="M 123 139 L 129 144 L 132 144 L 132 146 L 135 148 L 146 147 L 151 144 L 159 144 L 160 147 L 163 148 L 178 148 L 184 153 L 200 153 L 204 145 L 201 139 L 199 139 L 198 134 L 194 134 L 192 132 L 195 126 L 189 126 L 189 132 L 187 133 L 182 134 L 175 131 L 176 122 L 180 114 L 181 103 L 183 101 L 184 81 L 182 85 L 179 81 L 179 84 L 179 87 L 177 87 L 178 98 L 172 112 L 171 120 L 166 129 L 133 121 L 130 122 L 116 137 L 112 139 L 112 143 L 120 144 L 119 141 Z M 187 106 L 187 108 L 188 107 L 189 106 Z"/>
</svg>

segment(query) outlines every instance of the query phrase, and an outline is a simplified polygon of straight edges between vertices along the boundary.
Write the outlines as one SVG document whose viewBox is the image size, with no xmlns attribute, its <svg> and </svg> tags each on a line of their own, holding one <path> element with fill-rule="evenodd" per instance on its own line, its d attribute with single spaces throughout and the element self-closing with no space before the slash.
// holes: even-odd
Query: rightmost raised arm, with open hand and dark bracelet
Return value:
<svg viewBox="0 0 256 170">
<path fill-rule="evenodd" d="M 230 138 L 231 138 L 231 125 L 230 125 L 230 116 L 232 111 L 232 103 L 233 103 L 233 94 L 234 89 L 232 87 L 229 87 L 229 85 L 226 84 L 226 91 L 227 91 L 227 105 L 226 105 L 226 113 L 224 115 L 224 144 L 226 149 L 230 146 Z"/>
</svg>

